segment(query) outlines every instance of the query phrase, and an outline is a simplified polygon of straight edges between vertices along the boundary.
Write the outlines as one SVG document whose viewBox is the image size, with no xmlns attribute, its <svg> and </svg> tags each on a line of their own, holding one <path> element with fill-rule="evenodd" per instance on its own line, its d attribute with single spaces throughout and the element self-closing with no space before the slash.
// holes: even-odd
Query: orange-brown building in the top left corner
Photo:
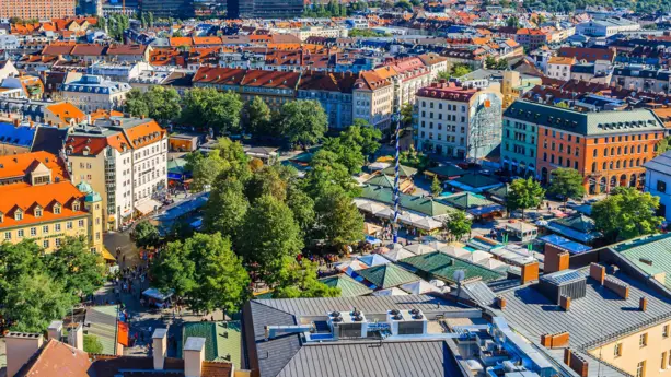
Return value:
<svg viewBox="0 0 671 377">
<path fill-rule="evenodd" d="M 0 19 L 51 20 L 74 16 L 74 0 L 2 0 Z"/>
</svg>

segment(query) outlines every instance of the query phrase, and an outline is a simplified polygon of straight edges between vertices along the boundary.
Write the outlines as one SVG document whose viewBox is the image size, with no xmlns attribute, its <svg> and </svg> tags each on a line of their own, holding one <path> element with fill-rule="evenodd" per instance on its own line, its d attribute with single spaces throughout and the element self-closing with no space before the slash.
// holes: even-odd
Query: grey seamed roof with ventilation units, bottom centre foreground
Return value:
<svg viewBox="0 0 671 377">
<path fill-rule="evenodd" d="M 440 304 L 440 308 L 438 304 Z M 370 342 L 357 342 L 357 344 L 324 343 L 323 345 L 305 345 L 301 344 L 299 334 L 287 334 L 269 339 L 268 341 L 265 340 L 264 327 L 267 325 L 296 325 L 297 319 L 294 316 L 325 316 L 328 311 L 349 310 L 354 307 L 365 314 L 385 313 L 393 308 L 406 310 L 418 308 L 423 311 L 464 309 L 464 307 L 455 306 L 451 302 L 428 295 L 254 299 L 248 304 L 253 322 L 250 330 L 254 331 L 254 339 L 256 341 L 259 376 L 456 376 L 455 374 L 447 374 L 447 372 L 444 372 L 444 368 L 448 367 L 446 358 L 451 357 L 446 357 L 444 353 L 449 351 L 441 345 L 442 342 L 437 342 L 438 345 L 416 345 L 418 342 L 385 342 L 382 349 L 375 349 L 378 342 L 373 344 Z M 319 349 L 313 350 L 315 346 Z M 444 351 L 440 357 L 435 356 L 438 350 Z M 428 356 L 426 356 L 428 358 L 416 358 L 416 361 L 408 358 L 410 355 L 418 355 L 418 353 L 423 352 L 428 354 Z M 343 361 L 335 357 L 321 358 L 320 355 L 322 355 L 322 353 L 332 355 L 335 353 L 343 353 L 347 358 Z M 387 356 L 382 355 L 387 353 Z M 392 363 L 392 365 L 389 364 L 391 361 L 386 358 L 368 358 L 368 356 L 390 357 L 394 360 L 394 363 Z M 294 357 L 298 358 L 293 360 Z M 385 363 L 389 364 L 385 368 L 402 368 L 402 363 L 404 365 L 407 364 L 407 366 L 403 366 L 403 369 L 396 369 L 403 374 L 380 374 L 381 372 L 378 372 L 378 369 L 381 367 L 377 363 L 382 363 L 383 360 L 386 360 Z M 347 364 L 349 366 L 342 364 Z M 425 366 L 419 364 L 436 365 Z M 442 365 L 443 369 L 441 369 L 439 365 Z M 350 373 L 339 374 L 345 367 L 351 368 L 348 369 Z M 435 373 L 437 370 L 443 372 Z M 408 373 L 405 374 L 405 372 Z M 427 374 L 423 374 L 424 372 Z"/>
</svg>

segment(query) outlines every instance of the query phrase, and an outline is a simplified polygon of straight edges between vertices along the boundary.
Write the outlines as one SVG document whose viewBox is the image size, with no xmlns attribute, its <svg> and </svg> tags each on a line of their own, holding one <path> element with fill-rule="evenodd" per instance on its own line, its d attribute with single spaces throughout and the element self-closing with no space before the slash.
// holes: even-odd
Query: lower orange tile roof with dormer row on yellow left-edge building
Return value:
<svg viewBox="0 0 671 377">
<path fill-rule="evenodd" d="M 0 213 L 3 214 L 0 228 L 85 215 L 83 198 L 84 193 L 68 180 L 41 186 L 0 186 Z M 73 210 L 74 201 L 80 202 L 79 211 Z M 58 214 L 54 213 L 56 203 L 61 204 Z M 39 217 L 36 217 L 34 212 L 37 205 L 43 209 Z M 23 211 L 21 220 L 14 217 L 18 210 Z"/>
</svg>

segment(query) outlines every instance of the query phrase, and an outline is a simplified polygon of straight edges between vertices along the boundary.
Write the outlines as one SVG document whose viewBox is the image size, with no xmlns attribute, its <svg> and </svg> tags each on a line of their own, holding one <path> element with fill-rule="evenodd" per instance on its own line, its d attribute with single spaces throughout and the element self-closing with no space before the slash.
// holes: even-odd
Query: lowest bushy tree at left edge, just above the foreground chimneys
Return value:
<svg viewBox="0 0 671 377">
<path fill-rule="evenodd" d="M 63 318 L 74 304 L 74 296 L 65 291 L 65 284 L 47 272 L 35 270 L 22 274 L 7 290 L 0 314 L 21 332 L 42 332 L 54 318 Z"/>
</svg>

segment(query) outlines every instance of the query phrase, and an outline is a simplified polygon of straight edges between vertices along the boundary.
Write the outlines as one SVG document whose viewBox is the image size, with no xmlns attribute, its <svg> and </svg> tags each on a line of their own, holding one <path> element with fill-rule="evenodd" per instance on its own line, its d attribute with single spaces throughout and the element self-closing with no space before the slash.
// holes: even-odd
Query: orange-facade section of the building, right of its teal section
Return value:
<svg viewBox="0 0 671 377">
<path fill-rule="evenodd" d="M 585 177 L 588 193 L 617 186 L 643 188 L 643 164 L 655 157 L 664 128 L 648 109 L 578 113 L 559 109 L 553 122 L 539 127 L 541 180 L 552 170 L 571 167 Z"/>
</svg>

